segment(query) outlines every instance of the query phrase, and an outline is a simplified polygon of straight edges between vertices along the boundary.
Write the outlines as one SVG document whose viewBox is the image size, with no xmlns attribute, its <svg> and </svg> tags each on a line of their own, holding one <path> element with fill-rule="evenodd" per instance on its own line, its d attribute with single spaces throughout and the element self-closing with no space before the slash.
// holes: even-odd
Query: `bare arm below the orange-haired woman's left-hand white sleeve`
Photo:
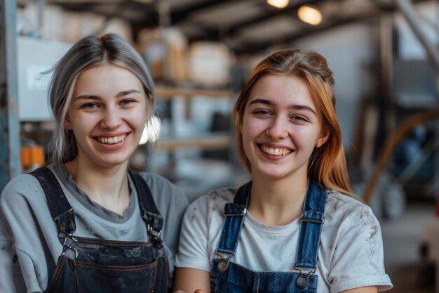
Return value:
<svg viewBox="0 0 439 293">
<path fill-rule="evenodd" d="M 197 289 L 203 290 L 196 292 Z M 177 268 L 175 271 L 174 291 L 210 293 L 210 273 L 196 268 Z"/>
</svg>

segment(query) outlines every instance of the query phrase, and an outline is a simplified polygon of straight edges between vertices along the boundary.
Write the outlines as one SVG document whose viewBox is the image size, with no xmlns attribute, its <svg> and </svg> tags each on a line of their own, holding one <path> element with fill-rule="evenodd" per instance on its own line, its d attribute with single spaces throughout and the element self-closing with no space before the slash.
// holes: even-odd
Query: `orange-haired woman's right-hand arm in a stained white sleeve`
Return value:
<svg viewBox="0 0 439 293">
<path fill-rule="evenodd" d="M 331 291 L 376 293 L 390 289 L 379 222 L 364 204 L 348 202 L 345 207 L 339 204 L 339 208 L 345 211 L 337 214 L 335 223 L 339 225 L 334 226 L 323 248 L 332 254 L 328 275 Z"/>
</svg>

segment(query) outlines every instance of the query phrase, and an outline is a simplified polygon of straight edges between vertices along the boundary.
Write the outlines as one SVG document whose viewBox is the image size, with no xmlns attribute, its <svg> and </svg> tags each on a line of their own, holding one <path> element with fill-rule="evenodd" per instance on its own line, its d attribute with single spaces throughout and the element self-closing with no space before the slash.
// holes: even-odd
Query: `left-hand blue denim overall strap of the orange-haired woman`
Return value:
<svg viewBox="0 0 439 293">
<path fill-rule="evenodd" d="M 236 191 L 234 202 L 229 202 L 225 205 L 224 215 L 226 216 L 226 221 L 224 221 L 221 238 L 219 238 L 217 254 L 229 254 L 229 257 L 235 254 L 245 214 L 247 213 L 251 189 L 252 182 L 245 183 Z"/>
</svg>

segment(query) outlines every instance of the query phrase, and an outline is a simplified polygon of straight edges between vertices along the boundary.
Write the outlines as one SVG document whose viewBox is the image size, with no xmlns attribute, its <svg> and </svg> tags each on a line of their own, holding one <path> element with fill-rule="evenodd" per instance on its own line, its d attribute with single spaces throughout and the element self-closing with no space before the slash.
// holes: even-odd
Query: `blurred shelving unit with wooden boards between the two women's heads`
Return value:
<svg viewBox="0 0 439 293">
<path fill-rule="evenodd" d="M 234 93 L 228 89 L 199 89 L 195 86 L 156 86 L 156 97 L 157 100 L 168 102 L 168 129 L 155 145 L 155 151 L 147 155 L 147 167 L 176 183 L 189 200 L 194 200 L 208 190 L 234 185 L 234 160 L 224 154 L 231 154 L 230 148 L 234 145 L 231 129 L 227 127 L 220 131 L 210 131 L 207 127 L 213 123 L 213 112 L 224 112 L 224 115 L 230 116 Z M 214 100 L 222 101 L 219 102 L 221 109 Z M 194 110 L 194 103 L 203 110 Z M 227 104 L 227 110 L 224 104 Z M 201 119 L 201 115 L 204 119 Z M 205 121 L 207 117 L 212 121 L 200 125 L 199 121 Z M 187 124 L 189 129 L 184 129 L 182 124 Z M 208 130 L 198 131 L 198 128 Z M 187 130 L 187 133 L 182 129 Z M 212 154 L 210 151 L 214 151 L 215 155 L 221 153 L 229 159 L 206 156 L 206 152 Z"/>
</svg>

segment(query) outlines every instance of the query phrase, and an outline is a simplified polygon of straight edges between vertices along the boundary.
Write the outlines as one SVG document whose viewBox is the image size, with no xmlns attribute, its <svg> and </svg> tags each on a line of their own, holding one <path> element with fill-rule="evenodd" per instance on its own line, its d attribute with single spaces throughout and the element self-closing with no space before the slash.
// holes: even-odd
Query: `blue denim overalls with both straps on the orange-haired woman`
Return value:
<svg viewBox="0 0 439 293">
<path fill-rule="evenodd" d="M 251 181 L 236 192 L 234 202 L 224 207 L 226 220 L 222 228 L 217 255 L 210 271 L 212 293 L 317 293 L 317 258 L 323 213 L 325 211 L 326 190 L 313 179 L 309 180 L 300 216 L 300 232 L 297 243 L 297 257 L 294 270 L 298 272 L 251 271 L 229 261 L 236 252 L 239 235 L 243 228 Z"/>
</svg>

